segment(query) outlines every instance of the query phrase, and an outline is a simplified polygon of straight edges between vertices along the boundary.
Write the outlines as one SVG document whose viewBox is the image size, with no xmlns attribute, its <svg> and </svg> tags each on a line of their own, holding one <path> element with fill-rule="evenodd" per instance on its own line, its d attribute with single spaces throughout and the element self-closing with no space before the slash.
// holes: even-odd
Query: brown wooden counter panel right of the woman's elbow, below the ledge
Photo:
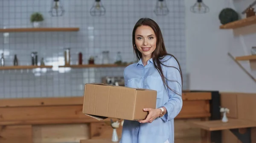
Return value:
<svg viewBox="0 0 256 143">
<path fill-rule="evenodd" d="M 209 101 L 183 101 L 183 107 L 176 118 L 210 117 Z"/>
</svg>

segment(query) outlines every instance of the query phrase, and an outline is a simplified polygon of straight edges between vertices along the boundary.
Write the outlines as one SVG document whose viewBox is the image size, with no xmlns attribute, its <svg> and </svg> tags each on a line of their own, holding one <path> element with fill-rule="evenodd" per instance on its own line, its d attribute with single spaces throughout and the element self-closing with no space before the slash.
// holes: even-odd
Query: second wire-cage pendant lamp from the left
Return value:
<svg viewBox="0 0 256 143">
<path fill-rule="evenodd" d="M 90 15 L 95 17 L 95 16 L 105 15 L 105 13 L 106 13 L 105 7 L 102 5 L 100 0 L 95 0 L 92 8 L 90 8 Z"/>
</svg>

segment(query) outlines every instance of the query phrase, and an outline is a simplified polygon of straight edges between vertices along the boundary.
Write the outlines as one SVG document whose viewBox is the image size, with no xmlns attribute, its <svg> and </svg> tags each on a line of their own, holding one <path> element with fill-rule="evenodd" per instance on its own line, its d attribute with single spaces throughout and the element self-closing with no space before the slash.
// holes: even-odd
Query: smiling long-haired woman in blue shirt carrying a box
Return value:
<svg viewBox="0 0 256 143">
<path fill-rule="evenodd" d="M 174 143 L 174 118 L 182 108 L 182 73 L 177 59 L 166 52 L 156 22 L 140 19 L 132 33 L 138 63 L 125 67 L 125 86 L 157 91 L 155 109 L 147 118 L 123 123 L 120 143 Z M 145 99 L 147 100 L 147 99 Z"/>
</svg>

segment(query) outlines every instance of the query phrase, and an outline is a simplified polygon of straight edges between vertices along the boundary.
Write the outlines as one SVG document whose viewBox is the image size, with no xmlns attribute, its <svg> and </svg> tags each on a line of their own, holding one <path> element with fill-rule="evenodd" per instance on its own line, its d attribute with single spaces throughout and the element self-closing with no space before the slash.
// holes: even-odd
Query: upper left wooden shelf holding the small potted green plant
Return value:
<svg viewBox="0 0 256 143">
<path fill-rule="evenodd" d="M 8 28 L 0 32 L 49 32 L 49 31 L 79 31 L 79 28 Z"/>
</svg>

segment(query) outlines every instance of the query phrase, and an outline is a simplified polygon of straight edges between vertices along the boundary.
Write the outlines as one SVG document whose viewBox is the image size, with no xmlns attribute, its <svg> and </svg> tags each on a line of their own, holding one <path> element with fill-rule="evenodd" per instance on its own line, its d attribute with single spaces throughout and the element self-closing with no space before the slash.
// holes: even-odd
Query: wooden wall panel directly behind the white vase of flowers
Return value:
<svg viewBox="0 0 256 143">
<path fill-rule="evenodd" d="M 236 93 L 221 93 L 221 107 L 227 107 L 230 109 L 230 113 L 227 114 L 228 118 L 238 118 L 237 114 L 237 95 Z"/>
</svg>

